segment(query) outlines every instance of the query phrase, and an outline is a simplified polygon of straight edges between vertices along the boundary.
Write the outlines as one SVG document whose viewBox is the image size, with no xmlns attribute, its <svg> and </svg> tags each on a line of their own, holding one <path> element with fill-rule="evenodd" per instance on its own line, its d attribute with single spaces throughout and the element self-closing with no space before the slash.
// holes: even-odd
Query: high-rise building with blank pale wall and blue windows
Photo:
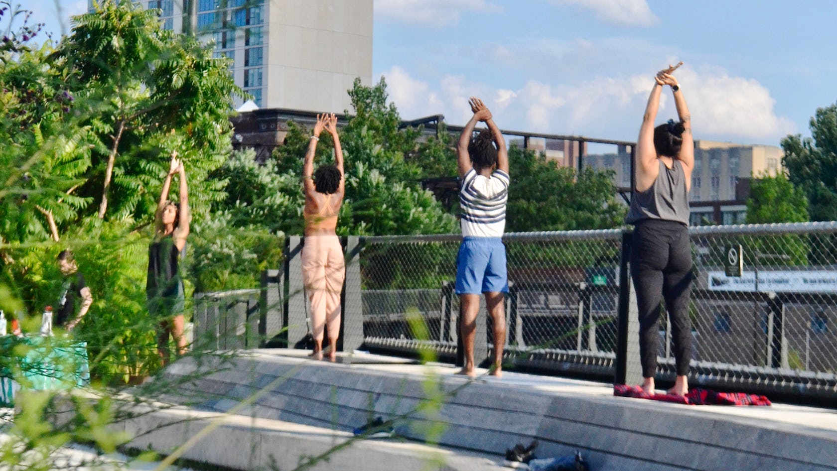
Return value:
<svg viewBox="0 0 837 471">
<path fill-rule="evenodd" d="M 157 8 L 163 28 L 213 41 L 260 108 L 341 112 L 354 80 L 372 81 L 372 0 L 136 3 Z"/>
</svg>

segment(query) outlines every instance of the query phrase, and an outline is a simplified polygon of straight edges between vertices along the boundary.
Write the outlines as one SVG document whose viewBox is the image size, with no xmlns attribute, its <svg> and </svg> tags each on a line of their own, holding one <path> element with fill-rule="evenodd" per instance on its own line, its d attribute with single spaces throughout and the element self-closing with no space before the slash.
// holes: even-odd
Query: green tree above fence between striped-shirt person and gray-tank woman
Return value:
<svg viewBox="0 0 837 471">
<path fill-rule="evenodd" d="M 622 225 L 610 171 L 558 166 L 545 156 L 509 149 L 511 185 L 506 232 L 609 229 Z"/>
</svg>

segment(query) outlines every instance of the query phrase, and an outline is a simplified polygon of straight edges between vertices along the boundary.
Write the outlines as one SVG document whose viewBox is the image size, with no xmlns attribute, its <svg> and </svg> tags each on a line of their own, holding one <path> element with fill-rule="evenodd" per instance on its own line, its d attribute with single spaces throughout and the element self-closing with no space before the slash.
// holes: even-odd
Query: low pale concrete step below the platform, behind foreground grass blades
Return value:
<svg viewBox="0 0 837 471">
<path fill-rule="evenodd" d="M 413 443 L 403 438 L 359 439 L 341 430 L 185 407 L 137 407 L 141 415 L 116 425 L 134 436 L 129 448 L 171 454 L 184 444 L 182 458 L 251 470 L 325 471 L 498 471 L 501 455 Z M 144 412 L 144 413 L 142 413 Z M 193 440 L 194 443 L 187 443 Z M 204 468 L 204 466 L 201 466 Z"/>
</svg>

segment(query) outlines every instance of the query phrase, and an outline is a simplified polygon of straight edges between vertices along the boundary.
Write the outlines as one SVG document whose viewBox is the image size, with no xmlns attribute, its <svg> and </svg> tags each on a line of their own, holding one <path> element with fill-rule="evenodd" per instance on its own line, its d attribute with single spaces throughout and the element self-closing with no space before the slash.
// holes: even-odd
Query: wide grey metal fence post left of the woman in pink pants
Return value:
<svg viewBox="0 0 837 471">
<path fill-rule="evenodd" d="M 306 315 L 306 290 L 302 280 L 301 236 L 285 238 L 285 325 L 287 325 L 287 348 L 304 347 L 308 335 Z"/>
</svg>

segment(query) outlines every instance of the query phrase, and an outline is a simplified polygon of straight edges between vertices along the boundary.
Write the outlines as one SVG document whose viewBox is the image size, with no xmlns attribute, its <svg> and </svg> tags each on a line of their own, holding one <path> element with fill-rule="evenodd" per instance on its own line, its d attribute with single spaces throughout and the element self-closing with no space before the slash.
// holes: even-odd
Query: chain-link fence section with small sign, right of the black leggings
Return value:
<svg viewBox="0 0 837 471">
<path fill-rule="evenodd" d="M 691 240 L 693 375 L 707 383 L 833 394 L 837 225 L 691 228 Z M 738 257 L 740 275 L 733 273 Z M 671 374 L 673 363 L 661 368 Z"/>
</svg>

